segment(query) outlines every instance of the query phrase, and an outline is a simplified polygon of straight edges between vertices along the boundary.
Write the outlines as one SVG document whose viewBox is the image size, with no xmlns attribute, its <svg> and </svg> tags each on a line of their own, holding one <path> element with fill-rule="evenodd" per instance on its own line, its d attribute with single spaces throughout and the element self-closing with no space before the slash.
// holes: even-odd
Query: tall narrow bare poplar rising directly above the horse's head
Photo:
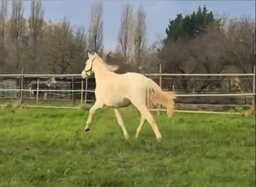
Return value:
<svg viewBox="0 0 256 187">
<path fill-rule="evenodd" d="M 88 48 L 91 52 L 103 52 L 103 6 L 95 2 L 91 7 L 91 22 L 88 31 Z"/>
</svg>

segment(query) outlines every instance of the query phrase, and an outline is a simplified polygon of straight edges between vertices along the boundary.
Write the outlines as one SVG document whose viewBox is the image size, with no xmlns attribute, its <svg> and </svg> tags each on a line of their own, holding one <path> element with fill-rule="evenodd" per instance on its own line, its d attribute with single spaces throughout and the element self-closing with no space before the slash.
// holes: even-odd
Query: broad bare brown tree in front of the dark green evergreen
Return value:
<svg viewBox="0 0 256 187">
<path fill-rule="evenodd" d="M 208 26 L 207 34 L 193 40 L 177 40 L 167 43 L 159 54 L 163 62 L 164 73 L 222 73 L 227 66 L 223 61 L 225 55 L 225 35 Z M 180 76 L 166 84 L 174 85 L 183 91 L 203 91 L 204 89 L 219 84 L 213 76 L 207 79 L 190 79 Z"/>
</svg>

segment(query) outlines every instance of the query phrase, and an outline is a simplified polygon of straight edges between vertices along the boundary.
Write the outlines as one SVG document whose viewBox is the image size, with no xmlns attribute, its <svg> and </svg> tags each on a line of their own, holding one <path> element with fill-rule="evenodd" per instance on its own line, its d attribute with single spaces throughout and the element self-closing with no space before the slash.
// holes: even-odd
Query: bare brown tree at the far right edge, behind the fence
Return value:
<svg viewBox="0 0 256 187">
<path fill-rule="evenodd" d="M 242 16 L 238 20 L 231 19 L 225 33 L 225 60 L 239 73 L 252 73 L 255 64 L 255 19 Z M 243 91 L 252 91 L 252 79 L 241 80 Z"/>
</svg>

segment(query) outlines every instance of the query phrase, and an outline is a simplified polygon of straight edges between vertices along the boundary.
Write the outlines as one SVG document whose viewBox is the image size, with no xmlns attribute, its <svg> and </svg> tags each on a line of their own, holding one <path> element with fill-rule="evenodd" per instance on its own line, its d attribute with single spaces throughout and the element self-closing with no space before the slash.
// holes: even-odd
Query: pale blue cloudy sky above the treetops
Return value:
<svg viewBox="0 0 256 187">
<path fill-rule="evenodd" d="M 103 45 L 106 51 L 115 50 L 118 43 L 118 32 L 121 22 L 121 12 L 124 4 L 129 2 L 137 9 L 142 5 L 146 16 L 147 44 L 165 37 L 165 28 L 170 19 L 175 19 L 177 13 L 192 13 L 198 6 L 204 4 L 208 10 L 216 15 L 239 18 L 240 16 L 251 16 L 255 18 L 255 1 L 153 1 L 153 0 L 104 0 L 103 2 Z M 30 15 L 31 1 L 24 1 L 24 15 Z M 64 17 L 70 20 L 73 26 L 83 25 L 88 29 L 91 5 L 94 1 L 89 0 L 61 0 L 42 1 L 45 19 L 60 21 Z"/>
</svg>

